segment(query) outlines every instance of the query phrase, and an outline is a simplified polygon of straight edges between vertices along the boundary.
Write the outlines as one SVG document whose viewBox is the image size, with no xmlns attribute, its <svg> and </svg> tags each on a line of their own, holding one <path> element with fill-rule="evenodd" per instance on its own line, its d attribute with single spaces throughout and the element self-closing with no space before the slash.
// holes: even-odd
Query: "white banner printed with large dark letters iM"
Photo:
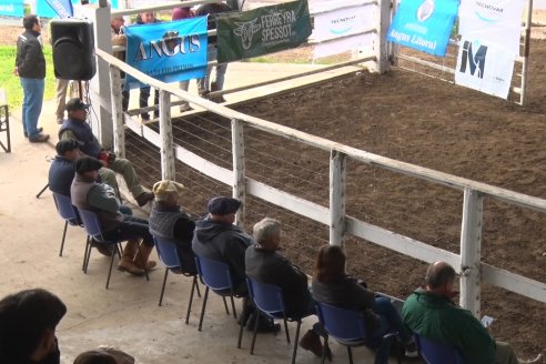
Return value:
<svg viewBox="0 0 546 364">
<path fill-rule="evenodd" d="M 515 57 L 503 47 L 461 40 L 455 83 L 503 99 L 508 98 Z"/>
</svg>

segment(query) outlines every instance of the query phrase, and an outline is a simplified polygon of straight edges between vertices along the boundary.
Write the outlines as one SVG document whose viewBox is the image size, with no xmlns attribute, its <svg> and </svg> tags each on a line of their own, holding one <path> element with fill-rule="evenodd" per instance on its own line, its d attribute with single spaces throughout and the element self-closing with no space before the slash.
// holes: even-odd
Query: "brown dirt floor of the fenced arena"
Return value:
<svg viewBox="0 0 546 364">
<path fill-rule="evenodd" d="M 528 102 L 520 107 L 477 91 L 394 69 L 350 74 L 235 108 L 330 140 L 546 199 L 546 41 L 533 41 Z M 231 168 L 230 122 L 213 115 L 174 123 L 176 142 Z M 130 159 L 141 159 L 148 183 L 160 178 L 159 153 L 134 138 Z M 327 206 L 327 153 L 245 128 L 247 175 Z M 459 250 L 463 195 L 447 188 L 347 162 L 347 213 L 453 252 Z M 200 213 L 211 194 L 230 193 L 188 168 L 184 205 Z M 246 229 L 263 215 L 281 219 L 286 254 L 307 273 L 324 226 L 249 199 Z M 546 214 L 486 199 L 483 261 L 546 282 Z M 346 243 L 351 273 L 376 291 L 404 297 L 423 281 L 426 264 L 365 241 Z M 546 350 L 546 305 L 483 286 L 482 312 L 496 318 L 494 336 L 522 357 Z"/>
</svg>

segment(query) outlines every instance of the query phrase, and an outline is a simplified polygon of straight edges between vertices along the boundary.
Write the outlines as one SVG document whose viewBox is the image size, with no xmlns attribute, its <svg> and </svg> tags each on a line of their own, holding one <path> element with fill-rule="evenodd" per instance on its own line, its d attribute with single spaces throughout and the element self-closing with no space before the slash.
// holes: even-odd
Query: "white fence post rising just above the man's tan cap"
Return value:
<svg viewBox="0 0 546 364">
<path fill-rule="evenodd" d="M 161 136 L 161 179 L 176 179 L 174 170 L 174 142 L 171 121 L 171 95 L 165 90 L 159 90 L 160 136 Z"/>
</svg>

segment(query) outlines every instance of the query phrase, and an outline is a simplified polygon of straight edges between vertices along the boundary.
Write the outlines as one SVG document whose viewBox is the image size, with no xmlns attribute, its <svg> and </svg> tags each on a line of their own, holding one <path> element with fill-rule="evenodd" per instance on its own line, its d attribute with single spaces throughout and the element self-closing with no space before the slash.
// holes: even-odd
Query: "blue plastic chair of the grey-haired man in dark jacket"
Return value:
<svg viewBox="0 0 546 364">
<path fill-rule="evenodd" d="M 284 294 L 280 286 L 274 284 L 262 283 L 253 277 L 246 277 L 246 284 L 249 285 L 249 295 L 252 300 L 257 313 L 265 318 L 280 320 L 284 322 L 284 332 L 286 333 L 286 342 L 290 344 L 289 325 L 286 322 L 296 322 L 296 333 L 294 338 L 294 348 L 292 351 L 292 364 L 295 363 L 297 354 L 297 340 L 300 338 L 300 328 L 302 326 L 302 318 L 310 316 L 289 316 L 286 315 L 286 309 L 284 305 Z M 254 344 L 256 341 L 257 325 L 260 320 L 255 320 L 254 334 L 252 336 L 251 354 L 254 354 Z M 243 325 L 241 325 L 239 332 L 239 347 L 241 347 L 241 337 L 243 334 Z"/>
</svg>

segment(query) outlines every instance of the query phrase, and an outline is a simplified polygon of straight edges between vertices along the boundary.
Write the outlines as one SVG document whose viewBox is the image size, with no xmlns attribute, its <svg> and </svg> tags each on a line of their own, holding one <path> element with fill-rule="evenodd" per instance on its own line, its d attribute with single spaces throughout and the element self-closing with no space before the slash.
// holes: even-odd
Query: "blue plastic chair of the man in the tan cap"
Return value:
<svg viewBox="0 0 546 364">
<path fill-rule="evenodd" d="M 172 270 L 176 274 L 193 277 L 192 291 L 190 293 L 190 303 L 188 304 L 188 312 L 185 314 L 185 323 L 188 324 L 190 321 L 190 312 L 192 309 L 193 293 L 195 291 L 195 287 L 198 289 L 198 295 L 201 297 L 201 292 L 199 291 L 198 284 L 198 274 L 189 272 L 189 267 L 182 264 L 182 260 L 179 257 L 175 242 L 156 235 L 152 236 L 153 241 L 155 242 L 155 250 L 158 251 L 159 259 L 161 263 L 163 263 L 163 265 L 165 266 L 165 275 L 163 276 L 163 285 L 161 286 L 159 305 L 161 306 L 161 304 L 163 303 L 163 294 L 165 292 L 166 276 L 169 275 L 169 271 Z"/>
</svg>

